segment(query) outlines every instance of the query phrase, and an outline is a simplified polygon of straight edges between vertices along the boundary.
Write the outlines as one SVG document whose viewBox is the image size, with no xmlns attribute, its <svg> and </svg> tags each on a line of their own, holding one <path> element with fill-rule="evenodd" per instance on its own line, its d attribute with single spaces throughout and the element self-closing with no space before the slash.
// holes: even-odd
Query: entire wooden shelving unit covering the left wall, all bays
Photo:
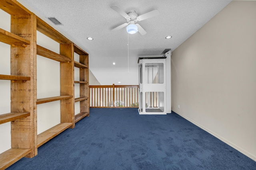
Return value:
<svg viewBox="0 0 256 170">
<path fill-rule="evenodd" d="M 22 157 L 36 156 L 38 147 L 90 115 L 89 63 L 88 53 L 16 0 L 1 0 L 0 9 L 11 16 L 10 31 L 0 28 L 0 41 L 11 49 L 11 73 L 0 74 L 0 80 L 11 83 L 10 113 L 0 115 L 0 124 L 11 122 L 11 149 L 0 153 L 0 169 L 5 169 Z M 37 45 L 36 30 L 60 43 L 60 54 Z M 74 52 L 80 55 L 80 62 L 74 61 Z M 60 62 L 60 96 L 37 99 L 36 55 Z M 80 68 L 79 81 L 74 81 L 75 66 Z M 80 84 L 80 98 L 74 98 L 74 83 Z M 57 100 L 60 123 L 37 135 L 37 105 Z M 80 102 L 80 113 L 76 116 L 75 102 Z"/>
</svg>

